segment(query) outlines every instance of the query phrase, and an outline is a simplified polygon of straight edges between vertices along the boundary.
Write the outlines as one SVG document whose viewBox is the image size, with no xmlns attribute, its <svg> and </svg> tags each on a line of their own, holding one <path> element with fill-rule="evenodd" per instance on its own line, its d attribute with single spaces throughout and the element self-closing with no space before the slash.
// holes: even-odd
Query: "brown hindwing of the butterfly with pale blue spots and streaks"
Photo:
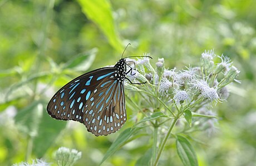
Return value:
<svg viewBox="0 0 256 166">
<path fill-rule="evenodd" d="M 98 90 L 99 89 L 99 90 Z M 107 79 L 90 97 L 93 102 L 85 110 L 84 122 L 96 136 L 119 130 L 126 121 L 124 82 Z"/>
</svg>

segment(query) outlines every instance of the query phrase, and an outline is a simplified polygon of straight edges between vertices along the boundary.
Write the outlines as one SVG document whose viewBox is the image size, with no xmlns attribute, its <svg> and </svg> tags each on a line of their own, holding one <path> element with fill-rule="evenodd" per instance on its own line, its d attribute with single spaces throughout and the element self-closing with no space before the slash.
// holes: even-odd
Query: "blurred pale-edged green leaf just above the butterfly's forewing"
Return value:
<svg viewBox="0 0 256 166">
<path fill-rule="evenodd" d="M 71 59 L 64 65 L 64 69 L 76 71 L 86 71 L 92 65 L 97 49 L 92 49 L 89 53 L 82 53 Z"/>
</svg>

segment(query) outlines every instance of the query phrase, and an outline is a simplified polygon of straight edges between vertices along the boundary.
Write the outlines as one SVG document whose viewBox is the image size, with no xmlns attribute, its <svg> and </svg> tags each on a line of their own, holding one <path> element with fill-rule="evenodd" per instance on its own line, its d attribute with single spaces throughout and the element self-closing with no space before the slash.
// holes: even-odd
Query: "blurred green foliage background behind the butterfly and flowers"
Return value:
<svg viewBox="0 0 256 166">
<path fill-rule="evenodd" d="M 227 55 L 241 70 L 242 84 L 214 110 L 221 117 L 210 137 L 196 133 L 200 165 L 256 163 L 256 1 L 0 1 L 0 165 L 43 157 L 54 163 L 58 147 L 82 152 L 76 165 L 99 164 L 121 131 L 95 137 L 78 123 L 46 112 L 54 92 L 87 71 L 125 56 L 150 53 L 178 69 L 199 64 L 204 50 Z M 216 59 L 217 60 L 217 59 Z M 148 138 L 145 138 L 146 140 Z M 170 139 L 160 165 L 181 165 Z M 134 165 L 146 152 L 137 139 L 105 165 Z M 54 165 L 54 164 L 53 164 Z"/>
</svg>

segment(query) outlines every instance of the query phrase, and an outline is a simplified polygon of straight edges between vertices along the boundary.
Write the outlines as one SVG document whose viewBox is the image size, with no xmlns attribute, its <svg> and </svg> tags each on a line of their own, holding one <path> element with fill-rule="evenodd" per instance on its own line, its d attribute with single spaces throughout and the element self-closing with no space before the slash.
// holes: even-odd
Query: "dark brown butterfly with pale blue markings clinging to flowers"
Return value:
<svg viewBox="0 0 256 166">
<path fill-rule="evenodd" d="M 138 56 L 126 58 L 131 57 Z M 68 82 L 51 98 L 48 114 L 57 120 L 81 122 L 95 136 L 119 130 L 127 120 L 124 80 L 133 70 L 126 58 L 121 58 L 114 67 L 96 69 Z"/>
</svg>

